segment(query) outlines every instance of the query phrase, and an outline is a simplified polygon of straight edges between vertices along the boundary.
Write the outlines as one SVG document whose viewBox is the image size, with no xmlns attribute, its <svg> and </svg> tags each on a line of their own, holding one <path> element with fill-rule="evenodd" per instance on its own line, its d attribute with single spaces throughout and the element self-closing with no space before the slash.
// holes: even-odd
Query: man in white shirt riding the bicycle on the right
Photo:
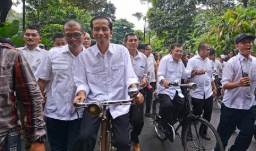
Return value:
<svg viewBox="0 0 256 151">
<path fill-rule="evenodd" d="M 168 123 L 173 124 L 173 121 L 178 118 L 179 112 L 182 111 L 185 102 L 181 88 L 179 88 L 179 86 L 169 88 L 170 82 L 178 80 L 178 82 L 181 83 L 181 78 L 187 79 L 187 77 L 194 77 L 196 73 L 198 75 L 204 74 L 204 70 L 200 69 L 194 69 L 193 71 L 186 70 L 181 60 L 182 53 L 183 49 L 181 44 L 172 44 L 170 54 L 161 59 L 157 71 L 157 96 L 161 103 L 160 116 L 161 124 L 164 128 L 162 131 L 173 132 L 167 134 L 170 137 L 174 137 L 175 133 L 174 128 L 168 126 Z M 167 130 L 170 129 L 168 127 L 172 130 Z"/>
</svg>

